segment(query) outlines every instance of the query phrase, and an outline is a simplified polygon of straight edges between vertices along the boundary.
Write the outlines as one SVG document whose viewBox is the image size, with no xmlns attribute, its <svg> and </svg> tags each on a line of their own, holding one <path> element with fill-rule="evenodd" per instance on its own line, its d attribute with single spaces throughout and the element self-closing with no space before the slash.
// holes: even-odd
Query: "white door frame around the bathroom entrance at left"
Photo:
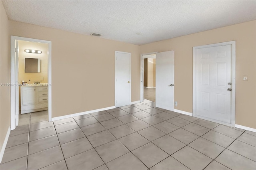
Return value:
<svg viewBox="0 0 256 170">
<path fill-rule="evenodd" d="M 10 91 L 11 91 L 11 130 L 16 128 L 16 114 L 19 114 L 19 103 L 16 104 L 16 97 L 18 94 L 16 94 L 16 88 L 15 84 L 18 84 L 18 58 L 16 58 L 15 55 L 15 45 L 16 40 L 22 40 L 22 41 L 29 41 L 29 42 L 39 42 L 39 43 L 48 43 L 48 121 L 52 121 L 52 42 L 46 41 L 46 40 L 38 40 L 33 38 L 24 38 L 24 37 L 18 37 L 18 36 L 11 36 L 11 46 L 10 46 Z M 19 100 L 19 99 L 18 99 Z M 18 113 L 17 113 L 18 112 Z"/>
</svg>

